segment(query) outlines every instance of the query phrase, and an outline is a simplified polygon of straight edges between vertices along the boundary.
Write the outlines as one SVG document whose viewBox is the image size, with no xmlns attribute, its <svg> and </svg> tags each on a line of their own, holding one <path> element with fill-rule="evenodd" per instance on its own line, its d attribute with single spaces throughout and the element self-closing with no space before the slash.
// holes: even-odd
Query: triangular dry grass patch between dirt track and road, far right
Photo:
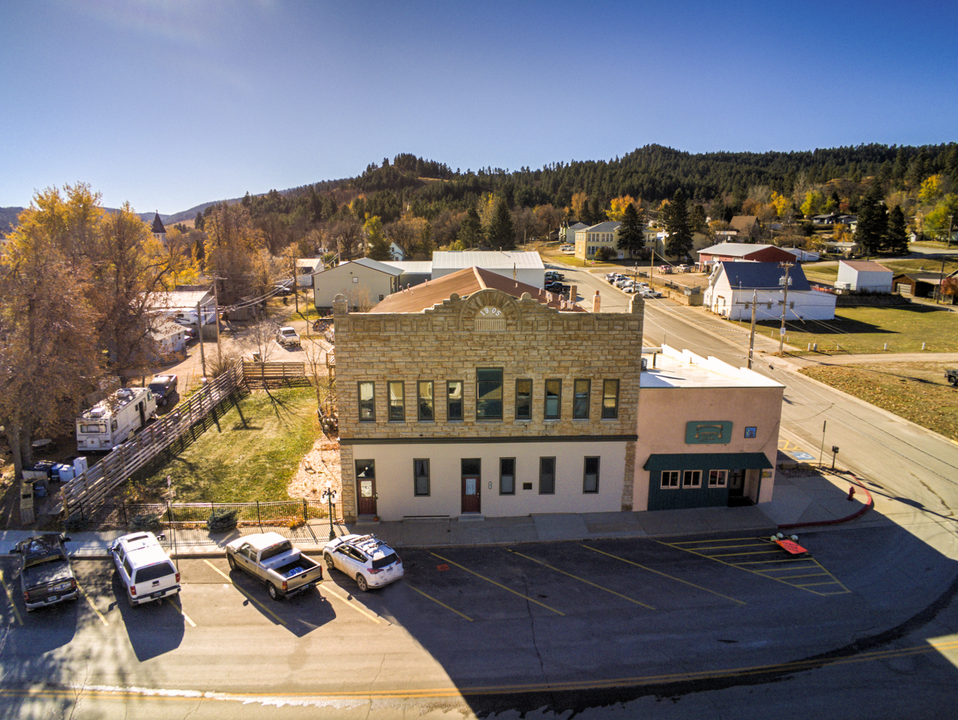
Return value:
<svg viewBox="0 0 958 720">
<path fill-rule="evenodd" d="M 876 407 L 958 441 L 958 390 L 945 381 L 946 363 L 819 366 L 802 373 Z"/>
</svg>

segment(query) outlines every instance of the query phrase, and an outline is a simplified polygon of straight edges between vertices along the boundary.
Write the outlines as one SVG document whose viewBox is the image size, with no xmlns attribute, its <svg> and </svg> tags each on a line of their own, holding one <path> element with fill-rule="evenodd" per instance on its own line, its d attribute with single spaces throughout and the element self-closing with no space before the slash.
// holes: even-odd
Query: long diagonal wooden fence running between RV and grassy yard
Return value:
<svg viewBox="0 0 958 720">
<path fill-rule="evenodd" d="M 202 423 L 220 403 L 233 395 L 242 381 L 242 370 L 233 366 L 201 386 L 172 412 L 148 425 L 133 440 L 120 445 L 85 473 L 77 475 L 60 491 L 62 511 L 69 517 L 89 512 L 106 501 L 117 486 Z"/>
</svg>

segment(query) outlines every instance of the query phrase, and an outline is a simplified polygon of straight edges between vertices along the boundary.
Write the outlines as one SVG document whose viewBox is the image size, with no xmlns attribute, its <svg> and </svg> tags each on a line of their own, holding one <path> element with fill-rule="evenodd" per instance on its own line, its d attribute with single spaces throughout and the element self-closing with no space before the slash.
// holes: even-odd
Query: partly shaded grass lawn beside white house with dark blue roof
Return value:
<svg viewBox="0 0 958 720">
<path fill-rule="evenodd" d="M 756 333 L 778 339 L 779 327 L 778 321 L 762 322 Z M 834 320 L 786 323 L 785 342 L 802 353 L 814 343 L 826 355 L 921 352 L 922 343 L 926 351 L 958 352 L 958 313 L 917 304 L 838 308 Z"/>
</svg>

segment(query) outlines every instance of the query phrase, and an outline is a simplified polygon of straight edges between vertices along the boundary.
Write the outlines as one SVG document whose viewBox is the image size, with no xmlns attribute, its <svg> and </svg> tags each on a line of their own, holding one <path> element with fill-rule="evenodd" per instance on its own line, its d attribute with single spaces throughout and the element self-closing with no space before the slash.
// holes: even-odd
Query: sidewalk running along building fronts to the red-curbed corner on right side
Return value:
<svg viewBox="0 0 958 720">
<path fill-rule="evenodd" d="M 851 484 L 850 478 L 838 474 L 788 477 L 784 471 L 779 471 L 772 502 L 752 507 L 336 523 L 333 530 L 336 535 L 372 533 L 395 548 L 437 548 L 731 532 L 761 537 L 777 532 L 780 525 L 809 523 L 825 527 L 846 520 L 856 526 L 885 522 L 876 513 L 865 513 L 852 519 L 862 511 L 866 494 L 858 490 L 855 499 L 849 501 Z M 208 557 L 223 554 L 224 546 L 241 535 L 273 531 L 289 537 L 303 551 L 316 553 L 329 540 L 329 528 L 328 521 L 317 520 L 293 530 L 271 526 L 262 529 L 242 527 L 230 533 L 211 534 L 205 529 L 177 529 L 167 531 L 165 544 L 170 553 L 179 558 Z M 68 548 L 75 557 L 106 558 L 110 543 L 125 532 L 71 533 Z M 786 534 L 800 532 L 801 529 L 791 529 Z M 0 554 L 9 554 L 17 542 L 32 534 L 28 530 L 0 531 Z"/>
</svg>

